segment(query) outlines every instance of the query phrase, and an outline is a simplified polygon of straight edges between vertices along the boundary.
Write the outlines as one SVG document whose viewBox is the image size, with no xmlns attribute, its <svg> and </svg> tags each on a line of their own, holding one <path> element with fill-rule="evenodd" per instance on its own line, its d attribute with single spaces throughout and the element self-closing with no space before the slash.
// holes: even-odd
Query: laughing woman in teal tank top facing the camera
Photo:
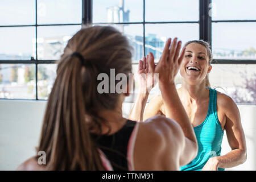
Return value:
<svg viewBox="0 0 256 182">
<path fill-rule="evenodd" d="M 244 163 L 246 143 L 238 107 L 232 98 L 210 88 L 208 75 L 212 69 L 212 52 L 209 44 L 203 40 L 192 40 L 184 48 L 185 54 L 180 64 L 181 88 L 177 92 L 191 120 L 199 151 L 192 162 L 180 169 L 215 171 Z M 142 61 L 154 59 L 152 54 L 147 58 L 144 57 Z M 148 94 L 137 98 L 137 102 L 146 104 Z M 143 109 L 136 109 L 135 106 L 132 111 L 137 110 L 137 114 L 131 116 L 139 119 Z M 166 113 L 162 94 L 152 98 L 144 111 L 144 119 Z M 221 156 L 224 130 L 232 151 Z"/>
</svg>

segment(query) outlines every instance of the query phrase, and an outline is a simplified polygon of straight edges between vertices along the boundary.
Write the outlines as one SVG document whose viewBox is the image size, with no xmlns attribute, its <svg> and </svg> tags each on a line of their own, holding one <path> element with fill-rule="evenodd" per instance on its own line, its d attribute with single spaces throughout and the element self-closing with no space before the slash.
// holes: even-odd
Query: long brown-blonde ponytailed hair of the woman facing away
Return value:
<svg viewBox="0 0 256 182">
<path fill-rule="evenodd" d="M 131 51 L 127 38 L 110 26 L 82 28 L 68 41 L 57 66 L 38 147 L 46 152 L 46 169 L 104 170 L 90 130 L 101 132 L 105 119 L 98 112 L 115 109 L 119 94 L 98 93 L 97 76 L 110 77 L 111 68 L 128 76 Z M 72 56 L 74 52 L 84 61 Z"/>
</svg>

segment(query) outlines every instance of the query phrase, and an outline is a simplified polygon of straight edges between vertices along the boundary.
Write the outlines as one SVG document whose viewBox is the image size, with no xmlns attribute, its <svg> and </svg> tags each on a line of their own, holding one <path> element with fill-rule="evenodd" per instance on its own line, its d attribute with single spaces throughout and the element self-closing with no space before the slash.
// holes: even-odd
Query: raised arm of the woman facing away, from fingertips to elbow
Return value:
<svg viewBox="0 0 256 182">
<path fill-rule="evenodd" d="M 183 166 L 196 157 L 198 146 L 190 119 L 181 104 L 174 83 L 185 50 L 183 49 L 179 57 L 181 42 L 177 43 L 177 39 L 174 39 L 171 49 L 169 49 L 170 44 L 171 40 L 168 40 L 159 64 L 156 65 L 156 73 L 159 73 L 159 88 L 163 97 L 166 117 L 179 123 L 185 135 L 185 145 L 180 156 L 180 166 Z"/>
</svg>

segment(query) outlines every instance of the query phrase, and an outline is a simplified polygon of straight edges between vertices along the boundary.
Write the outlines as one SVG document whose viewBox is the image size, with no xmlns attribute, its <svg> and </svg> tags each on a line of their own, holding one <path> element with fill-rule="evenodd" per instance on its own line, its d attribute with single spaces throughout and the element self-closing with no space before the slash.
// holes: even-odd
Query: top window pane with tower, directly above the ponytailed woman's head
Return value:
<svg viewBox="0 0 256 182">
<path fill-rule="evenodd" d="M 142 21 L 142 0 L 93 1 L 93 23 L 118 23 Z"/>
</svg>

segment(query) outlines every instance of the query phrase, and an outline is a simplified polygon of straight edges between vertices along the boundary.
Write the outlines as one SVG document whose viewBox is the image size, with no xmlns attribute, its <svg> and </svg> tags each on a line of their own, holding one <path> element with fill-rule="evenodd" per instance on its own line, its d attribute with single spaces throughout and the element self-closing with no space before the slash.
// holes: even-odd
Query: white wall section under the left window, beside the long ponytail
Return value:
<svg viewBox="0 0 256 182">
<path fill-rule="evenodd" d="M 0 170 L 36 154 L 46 101 L 0 100 Z"/>
</svg>

